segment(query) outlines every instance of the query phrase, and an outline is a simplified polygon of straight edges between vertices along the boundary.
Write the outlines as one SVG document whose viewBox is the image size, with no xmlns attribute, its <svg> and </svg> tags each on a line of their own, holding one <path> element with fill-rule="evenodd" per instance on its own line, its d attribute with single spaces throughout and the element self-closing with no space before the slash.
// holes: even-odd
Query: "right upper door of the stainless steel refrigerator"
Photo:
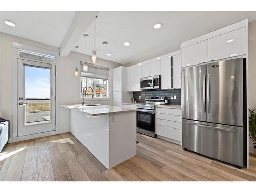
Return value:
<svg viewBox="0 0 256 192">
<path fill-rule="evenodd" d="M 243 58 L 207 66 L 208 122 L 243 126 Z"/>
</svg>

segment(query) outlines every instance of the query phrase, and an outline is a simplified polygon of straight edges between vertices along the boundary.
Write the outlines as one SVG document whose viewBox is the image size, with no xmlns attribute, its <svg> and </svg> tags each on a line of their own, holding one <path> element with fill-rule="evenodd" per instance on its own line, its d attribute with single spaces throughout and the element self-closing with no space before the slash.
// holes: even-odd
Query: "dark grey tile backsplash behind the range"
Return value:
<svg viewBox="0 0 256 192">
<path fill-rule="evenodd" d="M 170 96 L 176 95 L 176 99 L 171 100 Z M 139 96 L 141 96 L 141 99 L 139 99 Z M 165 96 L 168 99 L 168 104 L 181 104 L 181 93 L 180 89 L 174 89 L 174 90 L 147 90 L 147 91 L 138 91 L 133 92 L 133 98 L 137 102 L 145 102 L 146 96 Z"/>
</svg>

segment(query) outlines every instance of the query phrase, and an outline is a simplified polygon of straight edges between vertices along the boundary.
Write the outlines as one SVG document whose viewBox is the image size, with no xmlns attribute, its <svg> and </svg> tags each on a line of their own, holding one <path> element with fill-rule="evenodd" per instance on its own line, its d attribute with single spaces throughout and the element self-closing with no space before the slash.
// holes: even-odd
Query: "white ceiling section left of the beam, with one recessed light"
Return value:
<svg viewBox="0 0 256 192">
<path fill-rule="evenodd" d="M 0 11 L 0 31 L 60 47 L 75 11 Z M 17 26 L 5 25 L 11 20 Z"/>
</svg>

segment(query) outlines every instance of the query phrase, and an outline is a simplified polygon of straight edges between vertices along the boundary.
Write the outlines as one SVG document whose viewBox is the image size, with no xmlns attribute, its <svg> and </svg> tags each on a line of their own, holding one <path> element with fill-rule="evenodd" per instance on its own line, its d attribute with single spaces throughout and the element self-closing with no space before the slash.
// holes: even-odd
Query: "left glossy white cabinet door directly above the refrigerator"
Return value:
<svg viewBox="0 0 256 192">
<path fill-rule="evenodd" d="M 181 49 L 182 67 L 208 62 L 208 40 Z"/>
</svg>

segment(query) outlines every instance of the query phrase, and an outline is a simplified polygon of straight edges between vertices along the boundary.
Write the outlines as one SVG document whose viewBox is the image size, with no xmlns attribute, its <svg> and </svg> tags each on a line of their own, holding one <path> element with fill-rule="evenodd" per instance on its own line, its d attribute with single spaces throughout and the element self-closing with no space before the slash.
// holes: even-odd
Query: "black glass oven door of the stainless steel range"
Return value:
<svg viewBox="0 0 256 192">
<path fill-rule="evenodd" d="M 137 127 L 155 132 L 155 110 L 139 109 L 137 111 Z"/>
</svg>

